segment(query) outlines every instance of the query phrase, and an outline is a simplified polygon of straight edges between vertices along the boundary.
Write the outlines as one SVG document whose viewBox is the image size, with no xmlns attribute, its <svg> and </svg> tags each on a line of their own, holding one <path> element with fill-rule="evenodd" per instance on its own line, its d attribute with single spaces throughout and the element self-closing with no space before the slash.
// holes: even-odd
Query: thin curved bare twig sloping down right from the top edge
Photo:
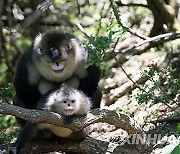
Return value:
<svg viewBox="0 0 180 154">
<path fill-rule="evenodd" d="M 117 20 L 117 23 L 119 24 L 119 26 L 123 27 L 123 28 L 126 29 L 129 33 L 131 33 L 131 34 L 133 34 L 134 36 L 137 36 L 137 37 L 139 37 L 139 38 L 141 38 L 141 39 L 146 40 L 146 39 L 149 38 L 149 37 L 144 36 L 144 35 L 142 35 L 142 34 L 137 34 L 136 32 L 133 32 L 129 27 L 123 25 L 123 23 L 121 22 L 121 20 L 120 20 L 120 18 L 119 18 L 120 15 L 119 15 L 119 13 L 118 13 L 118 11 L 117 11 L 117 8 L 116 8 L 116 6 L 115 6 L 114 3 L 113 3 L 113 0 L 109 0 L 109 1 L 110 1 L 112 10 L 113 10 L 113 12 L 114 12 L 114 15 L 115 15 L 115 17 L 116 17 L 116 20 Z"/>
</svg>

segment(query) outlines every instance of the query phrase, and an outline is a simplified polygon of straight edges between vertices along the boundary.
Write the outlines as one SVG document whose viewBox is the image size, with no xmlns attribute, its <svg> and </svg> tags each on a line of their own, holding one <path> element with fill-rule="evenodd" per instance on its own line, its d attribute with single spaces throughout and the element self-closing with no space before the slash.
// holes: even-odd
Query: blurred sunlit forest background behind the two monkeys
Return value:
<svg viewBox="0 0 180 154">
<path fill-rule="evenodd" d="M 94 49 L 89 65 L 102 69 L 102 108 L 130 115 L 146 132 L 179 136 L 180 0 L 0 0 L 1 100 L 12 101 L 21 53 L 54 29 Z M 0 114 L 0 143 L 17 128 L 14 117 Z"/>
</svg>

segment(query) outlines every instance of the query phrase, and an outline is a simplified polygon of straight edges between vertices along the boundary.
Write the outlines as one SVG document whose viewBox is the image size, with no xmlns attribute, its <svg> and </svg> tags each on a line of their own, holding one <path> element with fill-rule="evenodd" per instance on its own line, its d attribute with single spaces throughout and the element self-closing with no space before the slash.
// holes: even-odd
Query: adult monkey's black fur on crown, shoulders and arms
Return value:
<svg viewBox="0 0 180 154">
<path fill-rule="evenodd" d="M 44 38 L 45 37 L 45 38 Z M 50 33 L 47 33 L 46 36 L 43 35 L 42 38 L 44 39 L 41 44 L 44 46 L 47 50 L 50 50 L 50 54 L 47 53 L 48 55 L 55 57 L 57 59 L 57 50 L 53 50 L 52 52 L 52 47 L 58 48 L 58 41 L 62 41 L 63 39 L 67 42 L 74 38 L 76 39 L 73 35 L 68 34 L 68 33 L 61 33 L 58 31 L 53 31 Z M 76 39 L 77 40 L 77 39 Z M 79 42 L 79 41 L 77 41 Z M 40 100 L 41 96 L 43 95 L 39 89 L 39 82 L 40 80 L 47 80 L 44 79 L 43 76 L 40 75 L 40 79 L 38 79 L 36 84 L 31 84 L 29 76 L 31 75 L 29 69 L 31 70 L 31 65 L 34 65 L 34 60 L 33 60 L 33 54 L 35 49 L 34 45 L 35 42 L 31 45 L 28 51 L 24 52 L 22 56 L 20 57 L 18 64 L 17 64 L 17 69 L 16 73 L 14 76 L 14 87 L 16 91 L 16 96 L 14 97 L 13 104 L 16 106 L 20 106 L 23 108 L 27 109 L 34 109 L 35 106 L 37 105 L 37 102 Z M 81 51 L 73 51 L 73 52 L 86 52 L 88 54 L 88 58 L 90 57 L 91 52 L 89 52 L 87 49 L 83 48 L 80 46 Z M 71 49 L 73 50 L 73 49 Z M 67 51 L 68 53 L 71 53 L 72 51 Z M 56 55 L 52 55 L 55 53 Z M 59 55 L 61 56 L 61 55 Z M 82 53 L 82 56 L 83 53 Z M 54 62 L 54 59 L 52 60 Z M 74 64 L 72 64 L 74 65 Z M 85 68 L 84 68 L 85 69 Z M 78 70 L 78 68 L 77 68 Z M 87 75 L 83 78 L 79 78 L 79 86 L 76 87 L 77 89 L 81 90 L 84 92 L 89 98 L 92 100 L 92 108 L 99 108 L 100 107 L 100 100 L 101 100 L 101 92 L 98 91 L 98 82 L 100 80 L 101 72 L 99 68 L 95 65 L 92 65 L 86 69 Z M 59 88 L 63 82 L 66 82 L 66 80 L 71 79 L 72 76 L 77 76 L 72 74 L 69 76 L 67 79 L 62 80 L 60 82 L 53 81 L 51 79 L 47 80 L 49 83 L 53 84 L 54 88 Z M 51 89 L 50 89 L 51 90 Z M 25 120 L 22 120 L 20 118 L 17 118 L 19 124 L 23 126 L 25 124 Z"/>
</svg>

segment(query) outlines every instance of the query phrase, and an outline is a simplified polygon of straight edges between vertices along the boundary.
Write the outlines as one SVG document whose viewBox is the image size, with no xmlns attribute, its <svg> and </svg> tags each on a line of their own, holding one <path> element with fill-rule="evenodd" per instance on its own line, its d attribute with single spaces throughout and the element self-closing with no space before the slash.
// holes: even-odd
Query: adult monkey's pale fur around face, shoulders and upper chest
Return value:
<svg viewBox="0 0 180 154">
<path fill-rule="evenodd" d="M 80 46 L 78 40 L 71 38 L 70 46 L 72 52 L 67 55 L 67 51 L 62 50 L 62 55 L 66 57 L 66 60 L 60 62 L 60 64 L 64 65 L 64 70 L 60 73 L 55 73 L 52 70 L 54 63 L 47 63 L 44 55 L 41 55 L 39 51 L 44 35 L 39 34 L 33 44 L 33 64 L 28 65 L 30 85 L 37 85 L 39 83 L 38 89 L 42 94 L 56 87 L 56 85 L 52 84 L 52 81 L 58 83 L 62 81 L 73 88 L 78 88 L 79 79 L 87 76 L 86 69 L 84 68 L 88 59 L 87 51 Z M 42 81 L 41 76 L 45 81 Z"/>
</svg>

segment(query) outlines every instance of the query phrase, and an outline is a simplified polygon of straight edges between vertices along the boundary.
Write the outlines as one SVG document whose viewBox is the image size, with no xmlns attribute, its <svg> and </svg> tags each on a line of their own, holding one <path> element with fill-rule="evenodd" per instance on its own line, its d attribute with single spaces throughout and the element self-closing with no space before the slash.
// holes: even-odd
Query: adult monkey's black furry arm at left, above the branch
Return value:
<svg viewBox="0 0 180 154">
<path fill-rule="evenodd" d="M 17 97 L 17 99 L 14 100 L 14 105 L 29 109 L 34 108 L 35 103 L 40 98 L 40 92 L 37 87 L 30 85 L 28 77 L 30 63 L 32 63 L 30 53 L 24 53 L 18 62 L 13 81 Z M 34 77 L 33 80 L 36 80 L 36 78 Z"/>
</svg>

